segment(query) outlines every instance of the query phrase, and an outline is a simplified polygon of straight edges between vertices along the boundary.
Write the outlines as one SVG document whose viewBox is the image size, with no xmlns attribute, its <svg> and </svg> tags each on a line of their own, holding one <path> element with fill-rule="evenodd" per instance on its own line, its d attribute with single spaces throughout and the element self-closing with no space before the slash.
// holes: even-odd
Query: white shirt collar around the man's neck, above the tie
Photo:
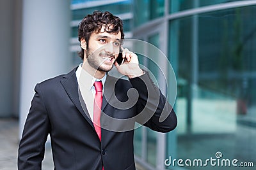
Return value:
<svg viewBox="0 0 256 170">
<path fill-rule="evenodd" d="M 106 82 L 107 74 L 104 75 L 103 78 L 97 79 L 93 77 L 91 74 L 89 74 L 87 71 L 85 71 L 82 67 L 83 63 L 79 64 L 77 70 L 76 70 L 76 77 L 77 82 L 79 85 L 83 85 L 87 90 L 94 89 L 93 83 L 95 81 L 102 81 L 103 89 Z"/>
</svg>

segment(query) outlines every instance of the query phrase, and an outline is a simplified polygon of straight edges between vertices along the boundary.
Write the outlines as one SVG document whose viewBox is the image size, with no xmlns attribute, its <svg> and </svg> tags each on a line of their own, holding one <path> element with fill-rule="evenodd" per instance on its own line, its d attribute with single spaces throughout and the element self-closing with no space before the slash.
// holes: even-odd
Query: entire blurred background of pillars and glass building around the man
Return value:
<svg viewBox="0 0 256 170">
<path fill-rule="evenodd" d="M 170 157 L 205 160 L 216 152 L 256 166 L 255 0 L 0 0 L 0 169 L 17 169 L 35 84 L 82 62 L 77 25 L 94 10 L 122 18 L 125 38 L 157 46 L 177 76 L 177 129 L 136 129 L 138 169 L 255 169 L 164 166 Z M 140 62 L 160 77 L 153 62 Z M 170 89 L 171 82 L 163 92 Z"/>
</svg>

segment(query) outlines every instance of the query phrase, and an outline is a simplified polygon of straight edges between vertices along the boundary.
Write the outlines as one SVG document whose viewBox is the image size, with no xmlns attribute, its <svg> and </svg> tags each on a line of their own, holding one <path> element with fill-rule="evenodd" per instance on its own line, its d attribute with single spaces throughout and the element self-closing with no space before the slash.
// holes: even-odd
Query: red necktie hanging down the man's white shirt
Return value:
<svg viewBox="0 0 256 170">
<path fill-rule="evenodd" d="M 94 87 L 96 90 L 96 94 L 93 102 L 93 125 L 101 141 L 100 113 L 102 106 L 102 82 L 95 81 Z"/>
</svg>

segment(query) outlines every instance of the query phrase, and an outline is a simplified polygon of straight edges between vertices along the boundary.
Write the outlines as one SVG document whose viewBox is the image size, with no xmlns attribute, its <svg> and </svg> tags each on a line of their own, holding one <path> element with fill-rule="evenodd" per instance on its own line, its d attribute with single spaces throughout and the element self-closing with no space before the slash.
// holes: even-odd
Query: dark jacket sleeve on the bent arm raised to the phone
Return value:
<svg viewBox="0 0 256 170">
<path fill-rule="evenodd" d="M 177 126 L 177 117 L 172 106 L 166 101 L 150 76 L 146 72 L 142 76 L 131 78 L 132 87 L 138 91 L 137 122 L 158 132 L 169 132 Z M 168 115 L 161 121 L 161 114 Z"/>
</svg>

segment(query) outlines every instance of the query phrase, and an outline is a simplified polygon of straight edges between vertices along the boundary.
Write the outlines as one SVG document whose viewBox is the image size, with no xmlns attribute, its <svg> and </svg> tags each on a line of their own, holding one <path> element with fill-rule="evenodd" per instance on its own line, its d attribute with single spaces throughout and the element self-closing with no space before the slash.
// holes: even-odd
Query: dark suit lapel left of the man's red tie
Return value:
<svg viewBox="0 0 256 170">
<path fill-rule="evenodd" d="M 78 87 L 76 69 L 63 76 L 61 84 L 63 85 L 64 89 L 66 90 L 68 96 L 70 97 L 76 108 L 81 112 L 87 122 L 93 127 L 92 120 L 90 119 L 86 104 L 83 101 L 81 92 Z"/>
</svg>

